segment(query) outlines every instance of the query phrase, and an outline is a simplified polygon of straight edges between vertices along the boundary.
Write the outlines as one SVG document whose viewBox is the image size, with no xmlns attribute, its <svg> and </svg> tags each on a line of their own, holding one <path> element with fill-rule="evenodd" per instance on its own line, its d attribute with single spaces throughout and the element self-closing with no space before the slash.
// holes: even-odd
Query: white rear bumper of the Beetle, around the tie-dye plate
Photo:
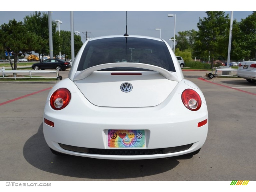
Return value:
<svg viewBox="0 0 256 192">
<path fill-rule="evenodd" d="M 50 148 L 61 153 L 101 159 L 164 158 L 194 152 L 202 147 L 207 137 L 208 122 L 198 127 L 199 122 L 208 119 L 206 104 L 202 103 L 198 111 L 189 111 L 181 101 L 177 102 L 180 100 L 177 93 L 171 94 L 169 101 L 145 108 L 99 107 L 91 104 L 81 93 L 72 93 L 71 97 L 69 105 L 58 112 L 51 109 L 49 102 L 45 105 L 44 118 L 54 122 L 54 127 L 43 123 L 45 140 Z M 108 146 L 108 130 L 145 130 L 145 146 L 111 148 Z M 108 153 L 108 150 L 166 151 L 166 148 L 190 144 L 188 149 L 170 153 Z M 95 150 L 103 152 L 90 153 Z"/>
</svg>

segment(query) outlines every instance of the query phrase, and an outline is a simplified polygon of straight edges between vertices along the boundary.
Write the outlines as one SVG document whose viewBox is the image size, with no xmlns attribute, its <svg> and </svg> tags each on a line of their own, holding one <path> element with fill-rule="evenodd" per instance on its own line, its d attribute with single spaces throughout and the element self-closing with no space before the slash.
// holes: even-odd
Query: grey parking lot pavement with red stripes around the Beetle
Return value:
<svg viewBox="0 0 256 192">
<path fill-rule="evenodd" d="M 207 71 L 183 73 L 207 101 L 204 146 L 193 157 L 136 161 L 55 156 L 42 131 L 46 97 L 55 82 L 1 83 L 1 181 L 255 181 L 256 83 L 204 78 Z M 60 75 L 66 78 L 68 71 Z"/>
</svg>

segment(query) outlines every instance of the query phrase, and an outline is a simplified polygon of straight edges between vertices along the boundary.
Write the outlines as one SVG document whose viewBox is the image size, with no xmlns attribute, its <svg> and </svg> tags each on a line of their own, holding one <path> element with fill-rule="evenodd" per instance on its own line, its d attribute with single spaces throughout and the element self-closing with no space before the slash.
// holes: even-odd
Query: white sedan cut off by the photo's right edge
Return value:
<svg viewBox="0 0 256 192">
<path fill-rule="evenodd" d="M 239 63 L 237 76 L 246 79 L 248 82 L 256 82 L 256 58 Z"/>
</svg>

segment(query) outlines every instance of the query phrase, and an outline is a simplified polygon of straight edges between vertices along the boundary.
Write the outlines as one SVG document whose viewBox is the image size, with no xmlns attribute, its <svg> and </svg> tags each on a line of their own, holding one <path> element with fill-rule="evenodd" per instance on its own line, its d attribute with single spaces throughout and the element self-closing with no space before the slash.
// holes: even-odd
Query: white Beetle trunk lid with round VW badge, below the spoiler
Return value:
<svg viewBox="0 0 256 192">
<path fill-rule="evenodd" d="M 94 71 L 74 83 L 97 106 L 151 107 L 162 103 L 178 81 L 166 79 L 155 71 Z"/>
</svg>

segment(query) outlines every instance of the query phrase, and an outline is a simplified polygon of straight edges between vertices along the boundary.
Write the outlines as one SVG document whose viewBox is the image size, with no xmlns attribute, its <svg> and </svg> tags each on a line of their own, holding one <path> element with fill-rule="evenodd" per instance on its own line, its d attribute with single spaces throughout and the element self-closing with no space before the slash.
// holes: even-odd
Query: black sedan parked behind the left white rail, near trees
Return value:
<svg viewBox="0 0 256 192">
<path fill-rule="evenodd" d="M 40 63 L 34 63 L 32 68 L 35 70 L 39 69 L 56 69 L 65 71 L 66 69 L 70 68 L 71 65 L 68 61 L 64 61 L 62 59 L 46 59 Z"/>
</svg>

